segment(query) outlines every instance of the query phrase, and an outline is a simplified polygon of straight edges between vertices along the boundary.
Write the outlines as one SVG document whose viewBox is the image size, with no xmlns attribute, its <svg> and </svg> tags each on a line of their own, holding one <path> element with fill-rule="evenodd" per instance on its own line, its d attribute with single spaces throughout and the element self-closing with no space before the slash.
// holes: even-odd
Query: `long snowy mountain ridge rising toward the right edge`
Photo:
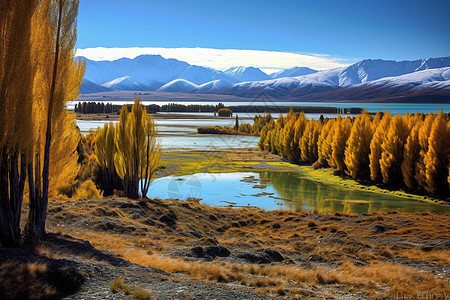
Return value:
<svg viewBox="0 0 450 300">
<path fill-rule="evenodd" d="M 442 68 L 445 67 L 450 67 L 450 57 L 403 62 L 363 60 L 347 67 L 324 70 L 298 77 L 241 82 L 221 92 L 242 97 L 254 97 L 261 92 L 268 93 L 273 97 L 304 96 L 346 87 L 364 87 L 361 84 L 383 78 L 386 80 L 380 81 L 380 84 L 386 85 L 388 82 L 393 84 L 396 82 L 397 85 L 404 85 L 416 78 L 413 74 L 421 74 L 421 78 L 430 76 L 430 81 L 437 80 L 439 76 L 436 75 L 436 72 L 443 72 Z M 440 71 L 435 71 L 435 68 L 440 68 Z M 424 73 L 419 73 L 421 71 L 424 71 Z M 406 74 L 411 76 L 401 77 L 399 81 L 395 81 L 395 78 Z M 422 84 L 419 85 L 422 86 Z M 430 84 L 423 85 L 423 88 L 429 86 Z M 417 89 L 420 89 L 420 87 L 417 87 Z"/>
</svg>

